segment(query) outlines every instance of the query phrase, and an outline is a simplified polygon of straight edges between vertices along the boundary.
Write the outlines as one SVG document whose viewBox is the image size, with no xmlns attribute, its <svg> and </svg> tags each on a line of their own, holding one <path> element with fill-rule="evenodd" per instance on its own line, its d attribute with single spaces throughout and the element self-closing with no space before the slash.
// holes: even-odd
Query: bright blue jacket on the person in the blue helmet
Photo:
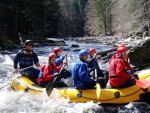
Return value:
<svg viewBox="0 0 150 113">
<path fill-rule="evenodd" d="M 71 69 L 73 85 L 77 88 L 86 88 L 89 83 L 92 83 L 93 80 L 88 76 L 88 67 L 87 65 L 78 60 Z"/>
</svg>

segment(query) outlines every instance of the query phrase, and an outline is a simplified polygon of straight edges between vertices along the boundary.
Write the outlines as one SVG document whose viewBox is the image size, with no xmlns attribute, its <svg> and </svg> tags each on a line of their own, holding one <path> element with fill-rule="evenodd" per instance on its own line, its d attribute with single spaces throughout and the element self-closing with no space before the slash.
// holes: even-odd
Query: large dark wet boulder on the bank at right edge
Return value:
<svg viewBox="0 0 150 113">
<path fill-rule="evenodd" d="M 130 63 L 136 67 L 150 64 L 150 37 L 145 38 L 139 44 L 129 50 Z"/>
</svg>

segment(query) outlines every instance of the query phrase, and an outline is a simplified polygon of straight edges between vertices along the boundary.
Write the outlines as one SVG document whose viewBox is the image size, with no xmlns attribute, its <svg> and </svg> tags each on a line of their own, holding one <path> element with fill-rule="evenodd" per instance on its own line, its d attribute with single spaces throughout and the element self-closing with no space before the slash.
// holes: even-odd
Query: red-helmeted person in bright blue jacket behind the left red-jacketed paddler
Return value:
<svg viewBox="0 0 150 113">
<path fill-rule="evenodd" d="M 65 53 L 63 56 L 61 56 L 62 49 L 60 47 L 55 47 L 53 49 L 53 52 L 56 55 L 56 61 L 55 61 L 56 66 L 60 66 L 62 64 L 67 64 L 67 62 L 63 62 L 65 57 L 67 57 L 67 53 Z M 62 78 L 66 79 L 68 77 L 71 77 L 71 72 L 64 68 L 61 72 L 61 76 L 62 76 Z"/>
</svg>

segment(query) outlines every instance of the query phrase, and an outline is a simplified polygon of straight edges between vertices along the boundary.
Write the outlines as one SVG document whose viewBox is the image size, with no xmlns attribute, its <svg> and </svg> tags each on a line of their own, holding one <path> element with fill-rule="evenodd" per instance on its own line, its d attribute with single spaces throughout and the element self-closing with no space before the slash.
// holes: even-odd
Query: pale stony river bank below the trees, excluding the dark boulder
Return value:
<svg viewBox="0 0 150 113">
<path fill-rule="evenodd" d="M 140 43 L 144 38 L 139 36 L 95 36 L 95 37 L 69 37 L 66 40 L 74 40 L 77 42 L 84 43 L 101 43 L 106 45 L 118 46 L 119 44 L 125 44 L 126 46 L 132 47 Z"/>
</svg>

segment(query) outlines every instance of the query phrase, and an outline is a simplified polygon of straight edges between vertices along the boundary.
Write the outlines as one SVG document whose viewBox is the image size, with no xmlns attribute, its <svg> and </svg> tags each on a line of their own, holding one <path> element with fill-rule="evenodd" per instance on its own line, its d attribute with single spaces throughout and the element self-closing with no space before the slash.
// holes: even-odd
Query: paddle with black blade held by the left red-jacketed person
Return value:
<svg viewBox="0 0 150 113">
<path fill-rule="evenodd" d="M 63 69 L 64 67 L 65 67 L 65 65 L 63 65 L 63 66 L 61 67 L 61 69 L 60 69 L 60 71 L 59 71 L 59 74 L 61 73 L 61 71 L 62 71 L 62 69 Z M 59 75 L 59 76 L 60 76 L 60 75 Z M 57 80 L 57 78 L 58 78 L 59 76 L 56 76 L 55 79 L 54 79 L 53 81 L 50 81 L 50 82 L 48 83 L 48 85 L 46 86 L 46 93 L 47 93 L 48 96 L 50 96 L 50 94 L 52 93 L 52 91 L 53 91 L 53 89 L 54 89 L 54 84 L 55 84 L 55 82 L 56 82 L 56 80 Z"/>
</svg>

